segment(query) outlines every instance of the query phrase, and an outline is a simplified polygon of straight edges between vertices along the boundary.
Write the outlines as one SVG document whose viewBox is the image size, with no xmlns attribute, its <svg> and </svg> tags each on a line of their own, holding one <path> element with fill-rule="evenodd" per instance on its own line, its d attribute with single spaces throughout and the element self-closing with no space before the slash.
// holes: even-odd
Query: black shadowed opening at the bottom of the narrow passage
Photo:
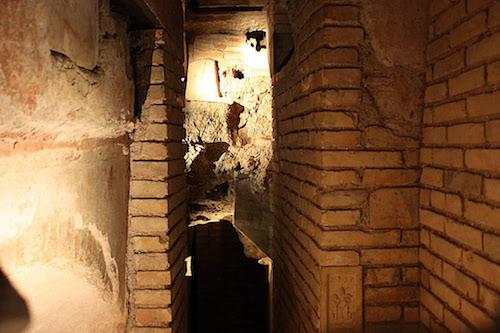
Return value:
<svg viewBox="0 0 500 333">
<path fill-rule="evenodd" d="M 221 221 L 194 227 L 191 332 L 268 332 L 267 266 Z"/>
</svg>

